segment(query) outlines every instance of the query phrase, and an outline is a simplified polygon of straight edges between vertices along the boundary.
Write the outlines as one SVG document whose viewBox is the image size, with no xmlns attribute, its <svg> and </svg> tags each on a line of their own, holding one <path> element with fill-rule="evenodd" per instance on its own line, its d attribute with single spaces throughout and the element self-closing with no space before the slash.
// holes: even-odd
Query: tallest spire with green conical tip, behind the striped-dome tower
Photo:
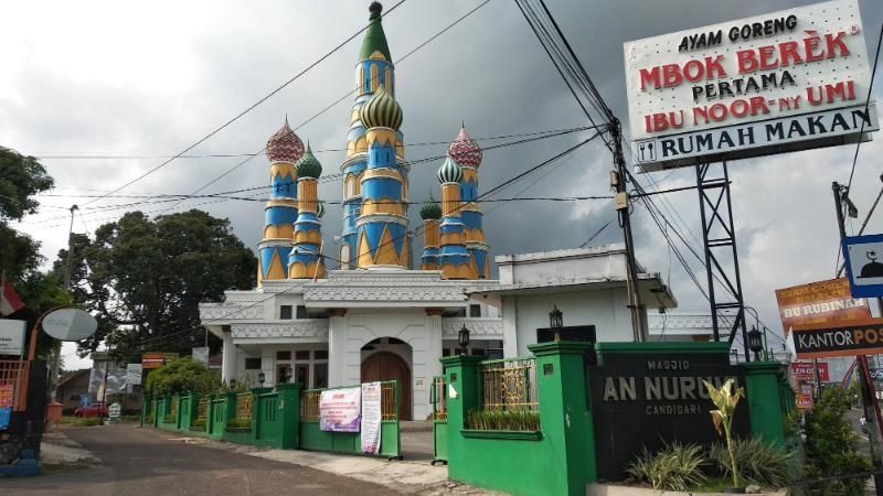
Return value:
<svg viewBox="0 0 883 496">
<path fill-rule="evenodd" d="M 361 109 L 379 88 L 382 88 L 389 97 L 395 98 L 395 67 L 392 63 L 390 46 L 386 43 L 386 34 L 383 32 L 383 24 L 381 23 L 383 7 L 377 2 L 373 2 L 369 11 L 371 12 L 369 26 L 365 30 L 362 48 L 359 52 L 359 62 L 355 64 L 355 101 L 350 114 L 347 159 L 340 165 L 340 171 L 343 173 L 343 230 L 340 237 L 339 254 L 342 269 L 352 269 L 357 266 L 359 239 L 364 233 L 364 227 L 360 227 L 358 224 L 360 217 L 364 214 L 362 212 L 364 200 L 362 185 L 365 172 L 369 169 L 369 136 L 368 126 L 362 121 L 360 115 Z M 402 132 L 397 128 L 386 128 L 383 134 L 383 141 L 389 142 L 390 150 L 394 151 L 393 154 L 395 155 L 389 163 L 384 164 L 384 168 L 392 166 L 401 177 L 402 192 L 398 200 L 404 202 L 407 195 L 407 165 L 404 162 Z M 406 203 L 402 204 L 402 208 L 404 208 L 403 215 L 406 219 Z"/>
</svg>

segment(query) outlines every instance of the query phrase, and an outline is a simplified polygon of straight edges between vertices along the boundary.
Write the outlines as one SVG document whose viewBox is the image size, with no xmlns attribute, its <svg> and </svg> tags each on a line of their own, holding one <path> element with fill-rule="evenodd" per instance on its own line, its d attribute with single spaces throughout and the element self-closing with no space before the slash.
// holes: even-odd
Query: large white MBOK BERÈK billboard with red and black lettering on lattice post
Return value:
<svg viewBox="0 0 883 496">
<path fill-rule="evenodd" d="M 855 142 L 880 127 L 865 108 L 857 0 L 626 42 L 624 52 L 641 171 Z"/>
</svg>

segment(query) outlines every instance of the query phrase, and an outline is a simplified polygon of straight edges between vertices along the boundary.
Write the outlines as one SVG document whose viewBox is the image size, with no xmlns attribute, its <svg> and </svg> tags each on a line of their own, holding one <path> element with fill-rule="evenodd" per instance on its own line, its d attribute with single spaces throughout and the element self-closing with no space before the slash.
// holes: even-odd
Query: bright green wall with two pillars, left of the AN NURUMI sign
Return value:
<svg viewBox="0 0 883 496">
<path fill-rule="evenodd" d="M 586 398 L 584 343 L 531 346 L 536 357 L 540 440 L 507 432 L 464 435 L 465 416 L 479 407 L 480 357 L 442 359 L 448 388 L 448 476 L 513 495 L 584 495 L 595 481 L 592 414 Z M 468 432 L 467 432 L 468 433 Z M 497 439 L 487 438 L 496 435 Z M 518 434 L 515 434 L 518 435 Z"/>
</svg>

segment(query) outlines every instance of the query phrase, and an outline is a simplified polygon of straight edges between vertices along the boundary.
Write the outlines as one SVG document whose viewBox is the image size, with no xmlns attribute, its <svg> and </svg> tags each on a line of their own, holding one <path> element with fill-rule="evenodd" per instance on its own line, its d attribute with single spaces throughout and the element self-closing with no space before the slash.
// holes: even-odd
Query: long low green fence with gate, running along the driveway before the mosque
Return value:
<svg viewBox="0 0 883 496">
<path fill-rule="evenodd" d="M 360 432 L 320 429 L 319 397 L 323 390 L 301 391 L 299 385 L 281 384 L 240 393 L 145 398 L 141 425 L 240 444 L 364 454 Z M 400 401 L 398 382 L 382 382 L 379 456 L 402 459 Z"/>
</svg>

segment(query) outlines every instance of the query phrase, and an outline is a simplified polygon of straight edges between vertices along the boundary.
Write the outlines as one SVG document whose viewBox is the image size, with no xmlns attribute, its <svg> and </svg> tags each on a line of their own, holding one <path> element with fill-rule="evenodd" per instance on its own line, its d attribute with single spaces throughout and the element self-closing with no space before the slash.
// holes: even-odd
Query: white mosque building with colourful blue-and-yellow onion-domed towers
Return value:
<svg viewBox="0 0 883 496">
<path fill-rule="evenodd" d="M 539 330 L 523 311 L 519 314 L 519 301 L 545 315 L 552 302 L 538 294 L 562 282 L 533 279 L 567 273 L 574 260 L 594 272 L 582 280 L 571 271 L 562 291 L 572 294 L 556 300 L 558 306 L 573 301 L 574 309 L 591 308 L 589 320 L 604 313 L 609 330 L 599 328 L 599 338 L 606 333 L 628 341 L 621 250 L 500 257 L 506 284 L 489 279 L 490 246 L 478 203 L 483 157 L 465 126 L 437 170 L 440 201 L 430 196 L 419 208 L 423 223 L 409 225 L 405 112 L 395 98 L 382 7 L 374 2 L 369 10 L 340 165 L 342 234 L 336 245 L 323 240 L 327 219 L 317 187 L 323 166 L 286 119 L 266 148 L 272 188 L 258 244 L 258 288 L 226 291 L 222 303 L 200 305 L 205 326 L 223 339 L 222 379 L 257 387 L 260 377 L 263 386 L 297 381 L 306 388 L 397 379 L 401 418 L 425 419 L 432 379 L 442 375 L 439 358 L 462 352 L 460 330 L 469 331 L 467 353 L 494 358 L 502 358 L 504 349 L 507 356 L 523 354 L 526 344 L 539 339 Z M 412 242 L 421 235 L 422 250 L 414 254 Z M 517 265 L 522 266 L 518 271 Z M 538 276 L 520 279 L 532 273 Z M 673 305 L 658 276 L 641 277 L 648 298 L 657 298 L 660 308 Z M 589 290 L 595 306 L 573 293 Z"/>
</svg>

